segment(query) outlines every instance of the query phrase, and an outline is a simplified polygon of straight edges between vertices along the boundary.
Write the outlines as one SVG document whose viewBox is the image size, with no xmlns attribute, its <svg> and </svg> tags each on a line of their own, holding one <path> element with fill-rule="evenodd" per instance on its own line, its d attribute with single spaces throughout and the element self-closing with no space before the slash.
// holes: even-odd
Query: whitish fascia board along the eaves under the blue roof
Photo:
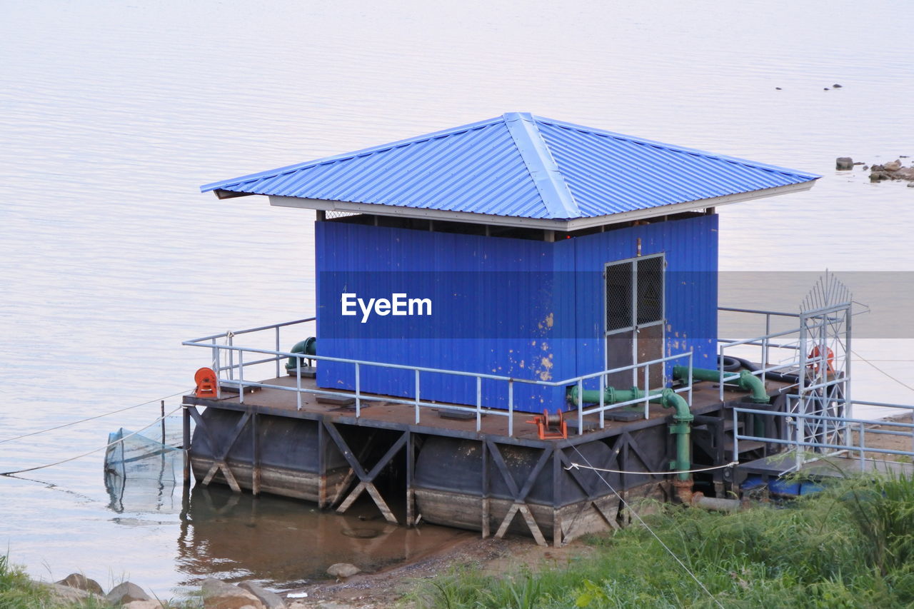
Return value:
<svg viewBox="0 0 914 609">
<path fill-rule="evenodd" d="M 396 205 L 379 205 L 377 203 L 352 203 L 349 201 L 333 201 L 317 198 L 277 196 L 270 197 L 270 205 L 281 208 L 349 211 L 362 214 L 374 214 L 377 216 L 441 219 L 454 222 L 469 222 L 471 224 L 488 224 L 491 226 L 510 226 L 517 228 L 561 230 L 569 232 L 572 230 L 589 229 L 595 226 L 606 226 L 611 224 L 619 224 L 622 222 L 631 222 L 638 219 L 652 219 L 658 216 L 667 216 L 670 214 L 692 211 L 695 209 L 719 208 L 723 205 L 740 203 L 756 198 L 776 197 L 778 195 L 786 195 L 793 192 L 802 192 L 803 190 L 809 190 L 813 187 L 814 184 L 814 180 L 809 180 L 807 182 L 801 182 L 800 184 L 764 188 L 762 190 L 753 190 L 751 192 L 739 193 L 735 195 L 702 198 L 696 201 L 686 201 L 685 203 L 675 203 L 673 205 L 664 205 L 656 208 L 635 209 L 632 211 L 624 211 L 622 213 L 610 214 L 607 216 L 577 219 L 514 218 L 511 216 L 494 216 L 465 211 L 407 208 Z"/>
</svg>

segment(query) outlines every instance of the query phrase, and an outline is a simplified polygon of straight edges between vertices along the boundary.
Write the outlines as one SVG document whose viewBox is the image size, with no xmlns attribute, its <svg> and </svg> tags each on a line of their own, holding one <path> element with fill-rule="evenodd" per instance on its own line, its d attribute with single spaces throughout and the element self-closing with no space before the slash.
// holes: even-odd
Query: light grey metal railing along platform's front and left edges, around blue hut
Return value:
<svg viewBox="0 0 914 609">
<path fill-rule="evenodd" d="M 271 326 L 260 326 L 256 328 L 250 328 L 247 330 L 239 330 L 234 332 L 224 332 L 222 334 L 211 335 L 208 337 L 197 338 L 194 340 L 184 341 L 182 344 L 190 347 L 206 347 L 212 351 L 212 369 L 216 372 L 218 383 L 220 387 L 233 387 L 237 388 L 239 391 L 239 402 L 244 403 L 245 399 L 245 389 L 258 388 L 258 389 L 271 389 L 271 390 L 283 390 L 283 391 L 293 391 L 296 394 L 296 409 L 302 410 L 302 399 L 303 394 L 314 394 L 318 396 L 325 396 L 337 399 L 354 399 L 356 405 L 356 418 L 361 416 L 362 402 L 364 401 L 384 401 L 388 403 L 403 404 L 407 406 L 412 406 L 415 410 L 415 422 L 416 424 L 420 423 L 420 411 L 422 408 L 434 408 L 434 409 L 446 409 L 449 411 L 465 411 L 474 413 L 476 416 L 476 431 L 479 432 L 482 429 L 482 417 L 486 415 L 494 416 L 505 416 L 507 417 L 507 427 L 508 435 L 514 435 L 514 413 L 515 413 L 515 385 L 517 383 L 523 385 L 534 385 L 540 387 L 565 387 L 569 388 L 572 386 L 577 386 L 578 388 L 578 400 L 577 400 L 577 423 L 578 423 L 578 434 L 584 432 L 584 416 L 590 414 L 599 414 L 599 423 L 600 429 L 605 427 L 605 415 L 607 411 L 615 410 L 618 408 L 624 408 L 626 406 L 632 406 L 637 404 L 643 404 L 644 418 L 649 416 L 649 405 L 650 402 L 654 399 L 660 398 L 663 395 L 663 390 L 665 386 L 661 383 L 660 387 L 656 387 L 653 390 L 650 387 L 650 374 L 649 371 L 652 366 L 664 366 L 666 367 L 667 362 L 673 362 L 677 360 L 685 359 L 688 366 L 688 379 L 685 382 L 685 385 L 675 389 L 677 393 L 685 393 L 687 395 L 686 401 L 689 406 L 692 405 L 692 362 L 693 355 L 691 351 L 682 353 L 675 356 L 668 356 L 665 358 L 656 358 L 650 361 L 638 362 L 630 366 L 623 366 L 616 369 L 606 369 L 600 370 L 599 372 L 593 372 L 586 375 L 580 375 L 570 379 L 563 380 L 535 380 L 535 379 L 517 379 L 514 377 L 506 377 L 502 375 L 486 374 L 482 372 L 468 372 L 463 370 L 449 370 L 449 369 L 435 369 L 427 368 L 422 366 L 407 366 L 401 364 L 391 364 L 385 362 L 377 361 L 368 361 L 363 359 L 352 359 L 352 358 L 332 358 L 327 356 L 316 356 L 316 355 L 305 355 L 303 353 L 292 353 L 289 351 L 282 351 L 280 349 L 281 345 L 281 334 L 280 328 L 297 326 L 300 324 L 310 323 L 314 321 L 314 317 L 308 317 L 305 319 L 299 319 L 296 321 L 285 322 L 282 324 L 274 324 Z M 235 344 L 235 337 L 240 335 L 250 335 L 259 332 L 270 332 L 274 334 L 274 343 L 276 348 L 258 348 L 258 347 L 239 347 Z M 218 341 L 223 341 L 220 344 Z M 246 361 L 246 355 L 249 358 Z M 254 359 L 250 359 L 253 355 Z M 266 356 L 266 357 L 260 357 Z M 259 358 L 260 357 L 260 358 Z M 293 358 L 295 361 L 295 386 L 289 387 L 287 385 L 280 385 L 276 383 L 267 383 L 267 382 L 258 382 L 245 379 L 245 368 L 255 365 L 269 364 L 275 362 L 276 365 L 276 377 L 280 378 L 282 376 L 282 360 Z M 223 364 L 223 359 L 227 363 Z M 302 384 L 302 370 L 303 370 L 303 361 L 304 360 L 314 360 L 314 361 L 326 361 L 326 362 L 337 362 L 343 364 L 351 364 L 354 367 L 355 375 L 355 391 L 339 391 L 339 390 L 327 390 L 327 389 L 318 389 L 316 387 L 303 387 Z M 388 395 L 375 395 L 371 393 L 365 393 L 361 388 L 361 371 L 367 367 L 375 367 L 381 369 L 390 369 L 390 370 L 409 370 L 413 372 L 413 387 L 412 387 L 412 397 L 409 398 L 395 398 Z M 606 378 L 608 375 L 632 371 L 633 375 L 642 374 L 643 375 L 643 391 L 644 395 L 641 398 L 614 402 L 607 404 L 604 402 L 604 390 L 606 389 Z M 290 371 L 291 373 L 291 371 Z M 474 406 L 458 405 L 458 404 L 441 404 L 432 401 L 422 401 L 420 397 L 420 375 L 422 373 L 431 373 L 431 374 L 446 374 L 453 377 L 462 377 L 462 378 L 473 378 L 476 379 L 476 403 Z M 488 406 L 483 405 L 483 380 L 494 380 L 505 383 L 505 390 L 507 392 L 507 410 L 504 409 L 494 409 Z M 600 385 L 600 402 L 594 404 L 590 408 L 585 408 L 582 390 L 584 382 L 590 379 L 599 379 Z M 525 411 L 526 413 L 526 411 Z"/>
</svg>

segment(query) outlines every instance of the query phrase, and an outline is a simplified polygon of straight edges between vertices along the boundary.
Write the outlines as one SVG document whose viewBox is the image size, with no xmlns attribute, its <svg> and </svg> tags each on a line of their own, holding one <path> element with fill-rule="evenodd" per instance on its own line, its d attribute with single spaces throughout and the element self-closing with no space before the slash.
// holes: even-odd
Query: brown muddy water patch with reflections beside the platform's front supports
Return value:
<svg viewBox="0 0 914 609">
<path fill-rule="evenodd" d="M 288 589 L 325 579 L 335 562 L 372 572 L 475 537 L 430 525 L 399 527 L 367 502 L 337 515 L 303 501 L 232 493 L 227 486 L 185 487 L 182 504 L 177 568 L 184 584 L 212 576 Z"/>
</svg>

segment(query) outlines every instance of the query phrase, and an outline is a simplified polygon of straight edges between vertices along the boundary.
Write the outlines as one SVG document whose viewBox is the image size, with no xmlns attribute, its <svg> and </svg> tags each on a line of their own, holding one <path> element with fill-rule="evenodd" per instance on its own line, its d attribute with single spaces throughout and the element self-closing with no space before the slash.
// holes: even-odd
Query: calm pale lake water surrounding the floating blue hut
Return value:
<svg viewBox="0 0 914 609">
<path fill-rule="evenodd" d="M 845 281 L 874 313 L 859 318 L 856 351 L 909 382 L 914 333 L 899 294 L 914 271 L 914 188 L 834 171 L 839 155 L 914 155 L 914 18 L 877 13 L 856 2 L 5 0 L 0 440 L 186 390 L 207 356 L 182 340 L 314 313 L 313 213 L 218 201 L 200 184 L 507 111 L 824 175 L 807 193 L 722 208 L 721 268 L 859 272 Z M 844 88 L 824 91 L 834 83 Z M 724 283 L 721 304 L 788 310 L 807 284 L 776 275 L 744 294 Z M 857 396 L 914 402 L 866 363 L 855 370 Z M 0 466 L 89 451 L 158 409 L 0 443 Z M 364 528 L 357 516 L 233 503 L 218 489 L 111 497 L 101 469 L 94 454 L 0 481 L 0 543 L 14 561 L 56 579 L 129 576 L 167 597 L 207 573 L 285 586 L 360 553 L 379 566 L 441 542 L 377 522 L 384 543 L 358 540 L 345 534 Z"/>
</svg>

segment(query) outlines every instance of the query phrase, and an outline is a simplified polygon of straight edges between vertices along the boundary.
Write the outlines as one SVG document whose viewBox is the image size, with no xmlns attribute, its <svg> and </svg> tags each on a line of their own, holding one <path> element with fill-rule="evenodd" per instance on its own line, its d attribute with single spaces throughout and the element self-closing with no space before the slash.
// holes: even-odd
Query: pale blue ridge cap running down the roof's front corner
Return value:
<svg viewBox="0 0 914 609">
<path fill-rule="evenodd" d="M 580 217 L 580 208 L 571 194 L 565 177 L 537 129 L 530 112 L 505 112 L 503 115 L 508 134 L 514 140 L 517 152 L 537 187 L 546 206 L 548 218 L 570 219 Z"/>
</svg>

